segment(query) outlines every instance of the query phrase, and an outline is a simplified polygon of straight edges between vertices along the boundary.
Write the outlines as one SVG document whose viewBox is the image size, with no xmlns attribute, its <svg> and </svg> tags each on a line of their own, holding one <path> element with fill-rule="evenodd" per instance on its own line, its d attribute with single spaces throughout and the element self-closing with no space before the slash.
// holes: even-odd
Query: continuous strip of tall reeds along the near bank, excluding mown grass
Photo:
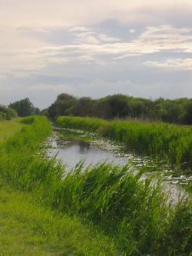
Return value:
<svg viewBox="0 0 192 256">
<path fill-rule="evenodd" d="M 98 127 L 99 128 L 99 127 Z M 35 117 L 0 149 L 0 177 L 30 191 L 42 204 L 92 223 L 113 239 L 118 255 L 190 255 L 192 208 L 187 201 L 167 204 L 161 182 L 141 181 L 128 166 L 106 163 L 65 173 L 45 158 L 39 143 L 50 134 L 46 118 Z"/>
</svg>

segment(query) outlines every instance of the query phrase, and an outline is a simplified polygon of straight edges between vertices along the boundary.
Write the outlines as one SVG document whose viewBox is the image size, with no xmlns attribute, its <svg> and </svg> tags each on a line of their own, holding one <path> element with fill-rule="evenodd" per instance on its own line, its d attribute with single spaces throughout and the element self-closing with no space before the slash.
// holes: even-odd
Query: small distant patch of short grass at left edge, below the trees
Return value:
<svg viewBox="0 0 192 256">
<path fill-rule="evenodd" d="M 17 131 L 21 131 L 24 125 L 15 119 L 12 121 L 0 121 L 0 142 L 12 137 Z"/>
</svg>

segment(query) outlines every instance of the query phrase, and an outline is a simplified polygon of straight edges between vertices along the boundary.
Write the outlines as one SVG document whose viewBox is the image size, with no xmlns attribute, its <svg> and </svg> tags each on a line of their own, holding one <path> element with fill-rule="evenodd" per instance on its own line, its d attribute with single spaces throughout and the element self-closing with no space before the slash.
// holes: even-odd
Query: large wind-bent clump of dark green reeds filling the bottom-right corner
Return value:
<svg viewBox="0 0 192 256">
<path fill-rule="evenodd" d="M 153 179 L 140 181 L 141 175 L 128 167 L 80 165 L 55 192 L 53 207 L 93 222 L 127 255 L 190 255 L 190 204 L 171 207 L 161 182 L 154 188 Z"/>
</svg>

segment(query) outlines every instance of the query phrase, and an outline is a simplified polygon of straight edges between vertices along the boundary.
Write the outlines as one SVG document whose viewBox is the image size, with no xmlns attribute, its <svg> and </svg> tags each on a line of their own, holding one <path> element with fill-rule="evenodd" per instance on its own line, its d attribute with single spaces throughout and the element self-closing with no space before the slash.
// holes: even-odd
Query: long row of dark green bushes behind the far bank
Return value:
<svg viewBox="0 0 192 256">
<path fill-rule="evenodd" d="M 192 125 L 192 99 L 158 98 L 151 100 L 127 95 L 109 95 L 93 100 L 88 97 L 78 99 L 68 94 L 61 94 L 43 113 L 51 119 L 61 115 L 73 115 L 105 119 L 141 119 Z"/>
</svg>

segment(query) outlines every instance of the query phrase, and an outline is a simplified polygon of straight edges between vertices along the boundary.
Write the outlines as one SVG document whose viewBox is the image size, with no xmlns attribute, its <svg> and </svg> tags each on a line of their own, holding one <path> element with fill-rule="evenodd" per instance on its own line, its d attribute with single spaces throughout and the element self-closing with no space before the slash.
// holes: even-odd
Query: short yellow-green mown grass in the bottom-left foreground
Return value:
<svg viewBox="0 0 192 256">
<path fill-rule="evenodd" d="M 104 235 L 77 218 L 38 205 L 30 194 L 0 188 L 0 255 L 117 255 Z"/>
</svg>

